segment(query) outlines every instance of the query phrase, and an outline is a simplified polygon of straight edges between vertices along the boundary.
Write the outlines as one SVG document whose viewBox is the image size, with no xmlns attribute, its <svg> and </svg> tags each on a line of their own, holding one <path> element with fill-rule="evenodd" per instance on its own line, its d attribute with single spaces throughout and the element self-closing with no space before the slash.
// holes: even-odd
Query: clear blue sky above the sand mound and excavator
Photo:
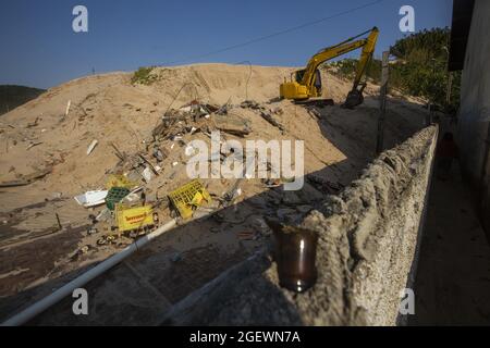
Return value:
<svg viewBox="0 0 490 348">
<path fill-rule="evenodd" d="M 48 88 L 91 73 L 138 66 L 249 61 L 303 66 L 319 49 L 380 28 L 376 55 L 397 38 L 404 4 L 416 30 L 451 25 L 452 0 L 384 0 L 298 30 L 188 59 L 358 8 L 373 0 L 2 0 L 0 84 Z M 72 30 L 72 10 L 88 9 L 88 33 Z M 357 53 L 355 53 L 357 54 Z"/>
</svg>

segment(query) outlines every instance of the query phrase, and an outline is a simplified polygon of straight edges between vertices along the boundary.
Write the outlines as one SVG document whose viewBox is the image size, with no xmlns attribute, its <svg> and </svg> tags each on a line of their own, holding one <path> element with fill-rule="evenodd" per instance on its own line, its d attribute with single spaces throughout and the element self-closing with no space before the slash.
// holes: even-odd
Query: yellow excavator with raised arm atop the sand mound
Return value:
<svg viewBox="0 0 490 348">
<path fill-rule="evenodd" d="M 356 40 L 368 33 L 369 35 L 366 38 Z M 335 46 L 322 49 L 317 54 L 311 57 L 306 69 L 299 70 L 295 73 L 295 80 L 293 80 L 293 76 L 291 76 L 291 82 L 286 82 L 284 78 L 284 83 L 280 86 L 281 98 L 292 99 L 294 101 L 305 101 L 310 98 L 321 97 L 321 77 L 318 66 L 328 60 L 334 59 L 355 49 L 363 48 L 360 59 L 356 67 L 354 86 L 348 92 L 343 107 L 353 109 L 354 107 L 362 104 L 364 101 L 363 91 L 366 88 L 366 83 L 362 84 L 360 79 L 372 59 L 378 35 L 379 29 L 375 26 L 368 32 L 351 37 Z"/>
</svg>

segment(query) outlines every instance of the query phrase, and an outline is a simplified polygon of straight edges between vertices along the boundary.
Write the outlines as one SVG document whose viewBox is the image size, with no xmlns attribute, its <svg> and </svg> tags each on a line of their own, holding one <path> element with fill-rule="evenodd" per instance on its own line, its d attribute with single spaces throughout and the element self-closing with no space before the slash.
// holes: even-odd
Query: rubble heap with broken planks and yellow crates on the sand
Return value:
<svg viewBox="0 0 490 348">
<path fill-rule="evenodd" d="M 223 105 L 193 100 L 162 115 L 151 132 L 152 137 L 142 141 L 144 150 L 126 153 L 111 144 L 119 162 L 106 173 L 106 187 L 75 198 L 81 206 L 93 210 L 87 228 L 91 244 L 82 246 L 73 260 L 96 252 L 98 248 L 125 247 L 169 219 L 177 219 L 181 224 L 211 220 L 211 233 L 236 231 L 236 238 L 243 241 L 268 237 L 271 232 L 266 219 L 298 223 L 321 200 L 320 192 L 324 189 L 307 187 L 298 192 L 284 191 L 285 178 L 193 181 L 185 169 L 189 157 L 196 152 L 191 141 L 200 139 L 209 145 L 213 130 L 222 132 L 223 139 L 237 140 L 253 133 L 250 122 L 244 115 L 247 112 L 260 115 L 281 133 L 285 132 L 281 123 L 284 111 L 270 107 L 253 100 Z M 243 153 L 221 148 L 218 156 L 223 163 L 229 157 L 242 157 Z M 271 170 L 270 163 L 267 169 Z M 318 185 L 324 188 L 328 184 L 314 183 L 314 186 Z M 331 192 L 332 186 L 327 187 Z M 134 223 L 127 225 L 124 219 Z"/>
</svg>

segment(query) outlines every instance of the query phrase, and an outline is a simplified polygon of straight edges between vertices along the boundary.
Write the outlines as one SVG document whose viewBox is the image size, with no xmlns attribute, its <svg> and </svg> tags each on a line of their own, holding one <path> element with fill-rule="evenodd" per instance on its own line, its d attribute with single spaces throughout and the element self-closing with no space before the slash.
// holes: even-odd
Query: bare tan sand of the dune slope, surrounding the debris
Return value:
<svg viewBox="0 0 490 348">
<path fill-rule="evenodd" d="M 317 119 L 304 107 L 290 101 L 268 103 L 278 97 L 279 84 L 292 71 L 289 67 L 225 64 L 158 69 L 156 74 L 159 79 L 151 86 L 131 85 L 132 74 L 128 73 L 89 76 L 51 88 L 36 100 L 3 115 L 0 120 L 0 183 L 19 179 L 46 167 L 52 171 L 28 186 L 0 189 L 0 241 L 26 240 L 20 246 L 25 248 L 26 257 L 19 262 L 12 260 L 15 247 L 0 250 L 0 257 L 10 260 L 0 270 L 0 295 L 14 294 L 39 283 L 40 278 L 49 278 L 48 274 L 54 272 L 53 268 L 59 276 L 83 264 L 70 263 L 68 258 L 76 248 L 93 245 L 94 237 L 87 237 L 78 231 L 73 240 L 70 239 L 71 243 L 69 240 L 63 246 L 57 243 L 58 235 L 48 237 L 51 241 L 42 239 L 46 244 L 44 248 L 57 247 L 59 252 L 42 259 L 45 264 L 41 269 L 30 269 L 36 260 L 27 257 L 28 238 L 36 236 L 36 233 L 42 235 L 52 227 L 56 213 L 63 226 L 69 226 L 69 231 L 73 232 L 77 227 L 83 231 L 88 223 L 88 214 L 98 210 L 90 212 L 83 209 L 75 203 L 73 196 L 105 186 L 107 173 L 119 161 L 110 142 L 126 153 L 145 150 L 162 114 L 170 108 L 179 109 L 194 99 L 215 104 L 226 101 L 240 104 L 248 99 L 270 109 L 281 108 L 283 114 L 279 119 L 284 125 L 284 132 L 267 123 L 253 110 L 237 109 L 236 112 L 252 125 L 252 133 L 246 139 L 304 140 L 306 174 L 317 173 L 332 183 L 348 184 L 375 156 L 378 107 L 375 96 L 378 87 L 368 86 L 366 102 L 356 110 L 329 107 L 322 109 L 320 119 Z M 323 76 L 323 85 L 326 97 L 333 98 L 336 104 L 343 101 L 351 88 L 348 82 L 330 75 Z M 72 107 L 64 117 L 69 100 Z M 36 119 L 37 124 L 29 126 Z M 387 147 L 406 139 L 421 127 L 422 121 L 424 111 L 419 104 L 393 99 L 389 104 Z M 206 139 L 203 134 L 187 134 L 184 141 L 193 138 Z M 87 147 L 94 139 L 99 140 L 99 145 L 87 156 Z M 38 142 L 28 149 L 29 145 Z M 185 165 L 182 164 L 185 161 L 184 149 L 179 146 L 172 148 L 170 140 L 163 141 L 161 146 L 169 151 L 170 157 L 163 162 L 163 174 L 151 182 L 149 189 L 154 194 L 160 190 L 164 195 L 184 184 L 187 178 Z M 174 167 L 172 163 L 175 161 L 180 164 Z M 208 185 L 219 196 L 232 183 L 218 179 Z M 242 199 L 267 191 L 258 179 L 244 183 L 242 188 Z M 313 201 L 324 197 L 324 192 L 307 184 L 297 196 L 301 203 L 313 204 Z M 260 216 L 260 211 L 255 213 Z M 162 214 L 167 216 L 166 212 Z M 193 237 L 182 248 L 192 249 L 210 240 L 222 243 L 226 248 L 230 243 L 236 244 L 235 237 L 231 241 L 229 237 L 220 239 L 210 236 L 207 228 L 194 227 L 188 233 L 194 234 Z M 168 240 L 168 244 L 172 243 Z M 90 260 L 102 259 L 114 251 L 115 248 L 98 250 Z"/>
</svg>

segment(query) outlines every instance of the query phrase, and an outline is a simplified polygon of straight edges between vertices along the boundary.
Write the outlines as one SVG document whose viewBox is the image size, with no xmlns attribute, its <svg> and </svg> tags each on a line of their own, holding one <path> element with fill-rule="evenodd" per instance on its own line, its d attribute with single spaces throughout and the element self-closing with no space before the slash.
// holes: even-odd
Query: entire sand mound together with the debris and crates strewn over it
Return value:
<svg viewBox="0 0 490 348">
<path fill-rule="evenodd" d="M 335 104 L 292 103 L 277 96 L 293 71 L 157 67 L 161 78 L 151 85 L 132 84 L 133 73 L 87 76 L 2 115 L 0 296 L 106 260 L 173 219 L 180 225 L 146 250 L 170 269 L 209 246 L 223 260 L 250 256 L 268 245 L 271 220 L 294 225 L 322 211 L 326 195 L 342 190 L 372 160 L 378 87 L 366 88 L 362 107 L 345 110 L 338 103 L 352 86 L 329 75 L 324 91 Z M 390 101 L 387 120 L 391 147 L 425 115 L 418 104 Z M 304 144 L 298 190 L 285 188 L 299 172 L 277 173 L 278 156 L 265 160 L 258 146 L 246 146 L 272 140 L 281 151 L 283 141 Z M 196 181 L 187 171 L 199 159 L 208 175 Z M 223 169 L 240 159 L 256 159 L 257 172 L 267 175 L 225 175 Z"/>
</svg>

